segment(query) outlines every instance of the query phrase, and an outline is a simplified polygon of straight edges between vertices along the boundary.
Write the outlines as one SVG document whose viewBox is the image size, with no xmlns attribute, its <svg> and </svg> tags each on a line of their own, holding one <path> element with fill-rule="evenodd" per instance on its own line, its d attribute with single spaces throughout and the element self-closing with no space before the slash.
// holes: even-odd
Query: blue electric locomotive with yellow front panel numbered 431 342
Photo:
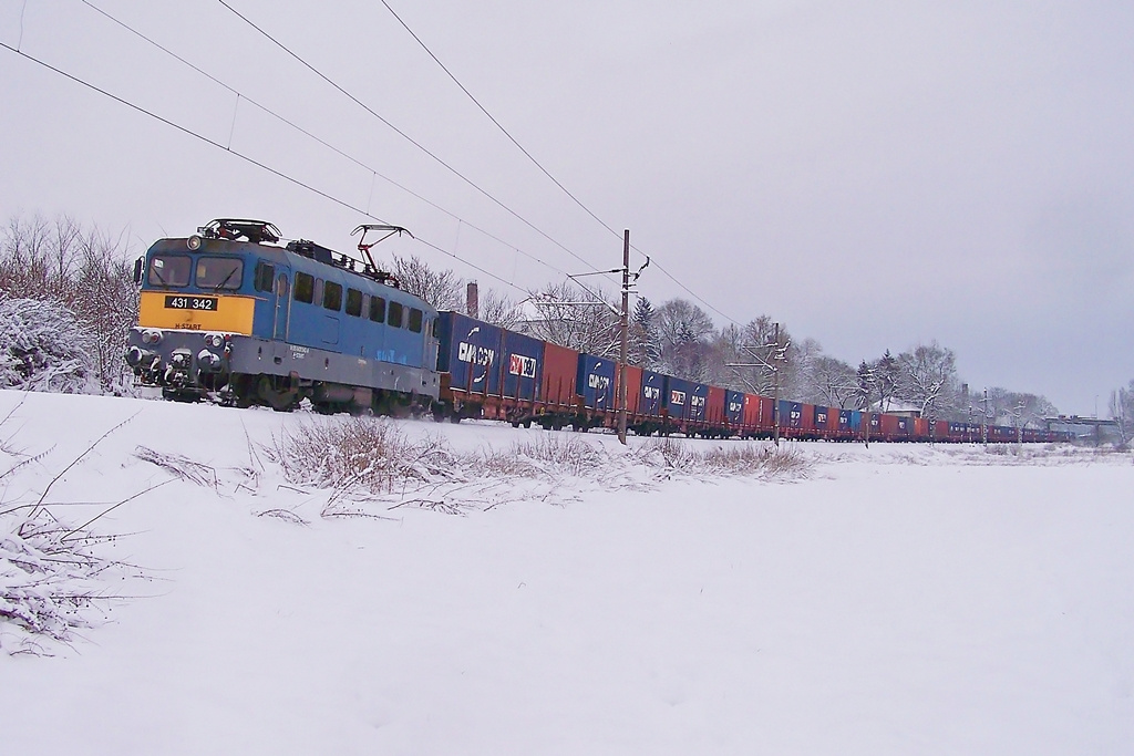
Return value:
<svg viewBox="0 0 1134 756">
<path fill-rule="evenodd" d="M 361 226 L 355 260 L 271 223 L 214 220 L 161 239 L 135 267 L 142 286 L 127 362 L 166 398 L 237 406 L 403 414 L 438 397 L 437 311 L 378 271 Z M 381 239 L 379 239 L 381 240 Z"/>
</svg>

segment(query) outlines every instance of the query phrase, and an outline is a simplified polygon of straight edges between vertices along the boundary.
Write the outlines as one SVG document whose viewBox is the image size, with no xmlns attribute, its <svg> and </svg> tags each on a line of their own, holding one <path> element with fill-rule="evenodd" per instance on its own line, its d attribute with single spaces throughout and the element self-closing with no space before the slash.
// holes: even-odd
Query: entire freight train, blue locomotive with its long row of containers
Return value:
<svg viewBox="0 0 1134 756">
<path fill-rule="evenodd" d="M 439 312 L 379 269 L 371 249 L 404 228 L 364 224 L 357 256 L 272 223 L 217 219 L 155 241 L 135 265 L 138 324 L 126 362 L 179 401 L 547 430 L 613 428 L 619 365 Z M 374 236 L 371 236 L 374 235 Z M 367 239 L 371 239 L 367 241 Z M 828 441 L 1058 442 L 1066 433 L 776 400 L 625 366 L 626 427 L 638 435 Z"/>
</svg>

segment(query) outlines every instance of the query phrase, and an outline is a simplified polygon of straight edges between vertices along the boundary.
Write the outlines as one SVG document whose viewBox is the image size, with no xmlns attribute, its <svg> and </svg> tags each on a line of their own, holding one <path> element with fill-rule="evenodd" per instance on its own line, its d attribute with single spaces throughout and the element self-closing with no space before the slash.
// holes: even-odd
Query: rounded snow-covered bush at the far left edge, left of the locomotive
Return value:
<svg viewBox="0 0 1134 756">
<path fill-rule="evenodd" d="M 73 312 L 39 299 L 0 299 L 0 388 L 98 390 L 93 339 Z"/>
</svg>

